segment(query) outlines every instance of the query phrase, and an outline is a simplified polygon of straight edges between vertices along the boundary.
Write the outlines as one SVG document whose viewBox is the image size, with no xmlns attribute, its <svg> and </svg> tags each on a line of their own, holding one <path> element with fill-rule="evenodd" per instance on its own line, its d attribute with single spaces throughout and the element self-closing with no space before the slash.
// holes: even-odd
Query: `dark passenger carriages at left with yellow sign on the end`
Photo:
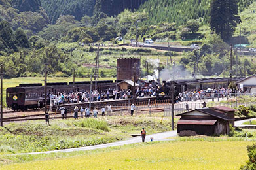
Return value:
<svg viewBox="0 0 256 170">
<path fill-rule="evenodd" d="M 92 82 L 95 86 L 96 82 Z M 97 81 L 97 89 L 105 90 L 108 88 L 115 88 L 115 83 L 112 80 Z M 85 82 L 54 82 L 47 83 L 47 93 L 58 92 L 75 92 L 90 90 L 90 81 Z M 14 88 L 7 88 L 7 107 L 12 110 L 27 110 L 40 109 L 45 103 L 45 87 L 42 84 L 20 84 Z M 47 96 L 47 103 L 50 99 Z"/>
</svg>

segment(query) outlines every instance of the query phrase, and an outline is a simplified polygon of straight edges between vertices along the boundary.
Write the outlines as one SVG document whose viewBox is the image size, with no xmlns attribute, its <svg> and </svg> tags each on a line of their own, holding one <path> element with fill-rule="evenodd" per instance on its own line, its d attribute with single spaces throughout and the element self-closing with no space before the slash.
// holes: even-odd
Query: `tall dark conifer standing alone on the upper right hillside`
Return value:
<svg viewBox="0 0 256 170">
<path fill-rule="evenodd" d="M 237 1 L 211 1 L 210 17 L 211 29 L 221 35 L 223 41 L 229 40 L 235 31 L 236 25 L 240 22 Z"/>
</svg>

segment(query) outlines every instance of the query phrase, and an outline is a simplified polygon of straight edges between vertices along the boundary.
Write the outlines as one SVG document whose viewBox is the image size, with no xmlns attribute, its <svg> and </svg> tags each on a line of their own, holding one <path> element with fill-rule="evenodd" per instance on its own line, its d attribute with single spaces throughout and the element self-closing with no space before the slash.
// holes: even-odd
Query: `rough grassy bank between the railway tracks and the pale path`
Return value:
<svg viewBox="0 0 256 170">
<path fill-rule="evenodd" d="M 96 119 L 43 120 L 8 124 L 0 127 L 0 154 L 41 152 L 111 143 L 130 138 L 141 127 L 147 133 L 171 129 L 170 120 L 162 124 L 156 117 L 106 116 Z"/>
</svg>

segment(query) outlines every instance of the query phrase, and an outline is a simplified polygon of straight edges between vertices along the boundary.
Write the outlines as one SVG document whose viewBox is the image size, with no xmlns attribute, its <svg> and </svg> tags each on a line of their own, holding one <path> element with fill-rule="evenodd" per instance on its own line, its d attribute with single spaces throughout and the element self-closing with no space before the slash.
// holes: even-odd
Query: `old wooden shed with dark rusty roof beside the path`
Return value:
<svg viewBox="0 0 256 170">
<path fill-rule="evenodd" d="M 177 133 L 196 131 L 198 135 L 228 135 L 229 124 L 234 125 L 234 109 L 203 108 L 183 114 L 177 123 Z"/>
</svg>

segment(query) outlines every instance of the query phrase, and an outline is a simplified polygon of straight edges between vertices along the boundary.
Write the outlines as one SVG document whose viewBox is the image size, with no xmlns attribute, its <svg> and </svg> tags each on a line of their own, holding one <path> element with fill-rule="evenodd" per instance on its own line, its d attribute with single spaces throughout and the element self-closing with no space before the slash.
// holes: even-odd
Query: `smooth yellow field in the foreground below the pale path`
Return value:
<svg viewBox="0 0 256 170">
<path fill-rule="evenodd" d="M 170 141 L 82 156 L 4 165 L 0 169 L 239 169 L 250 141 Z"/>
</svg>

